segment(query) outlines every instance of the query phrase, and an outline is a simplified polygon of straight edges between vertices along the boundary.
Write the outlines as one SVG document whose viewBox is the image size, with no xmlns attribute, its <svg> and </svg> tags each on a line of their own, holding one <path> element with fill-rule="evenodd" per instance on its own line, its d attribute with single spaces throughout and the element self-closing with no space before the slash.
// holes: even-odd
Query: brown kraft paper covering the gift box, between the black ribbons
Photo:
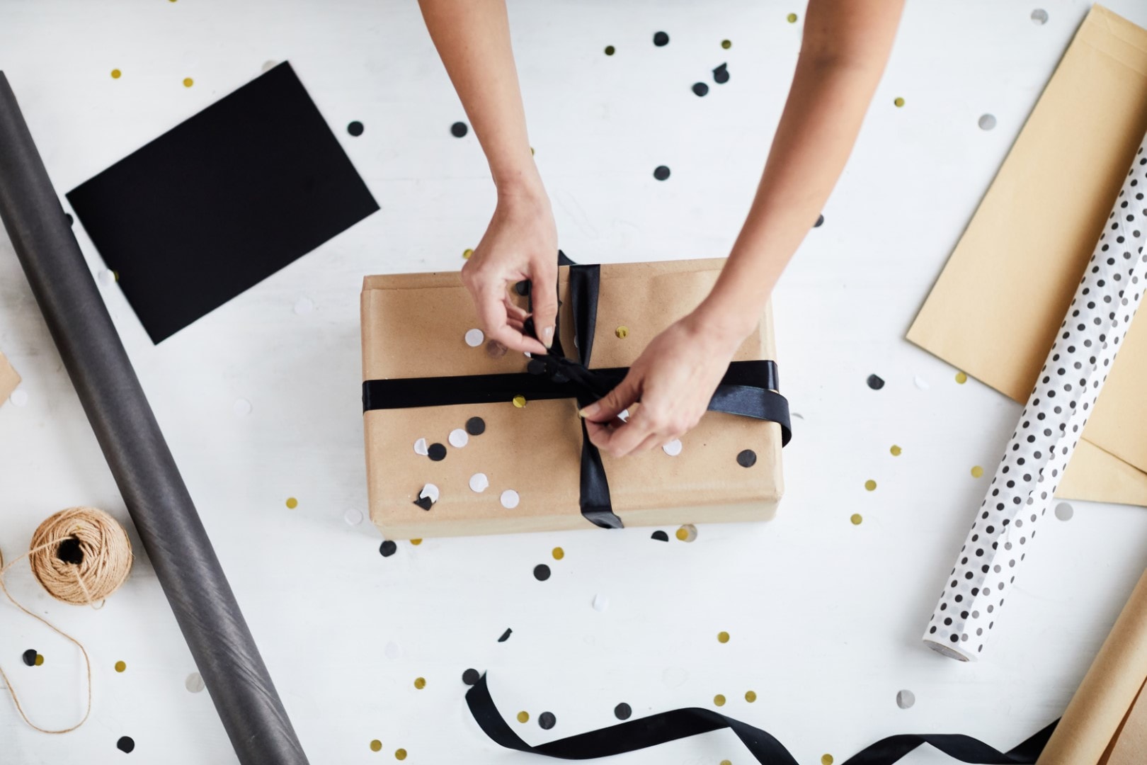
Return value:
<svg viewBox="0 0 1147 765">
<path fill-rule="evenodd" d="M 724 260 L 601 266 L 591 368 L 630 366 L 646 344 L 708 295 Z M 562 345 L 572 352 L 568 268 L 560 270 Z M 492 358 L 463 341 L 477 326 L 458 273 L 367 276 L 362 289 L 364 380 L 524 372 L 521 353 Z M 625 327 L 625 337 L 616 329 Z M 774 359 L 768 310 L 734 360 Z M 783 369 L 781 370 L 783 374 Z M 448 443 L 468 419 L 485 432 Z M 579 510 L 582 428 L 574 399 L 372 409 L 365 413 L 370 518 L 388 539 L 593 529 Z M 440 462 L 414 443 L 440 443 Z M 736 455 L 750 448 L 750 468 Z M 773 516 L 782 492 L 781 431 L 774 422 L 708 412 L 671 456 L 661 448 L 615 460 L 602 454 L 614 512 L 625 525 L 756 521 Z M 482 473 L 483 492 L 469 481 Z M 414 504 L 438 487 L 430 510 Z M 506 490 L 520 501 L 501 502 Z"/>
</svg>

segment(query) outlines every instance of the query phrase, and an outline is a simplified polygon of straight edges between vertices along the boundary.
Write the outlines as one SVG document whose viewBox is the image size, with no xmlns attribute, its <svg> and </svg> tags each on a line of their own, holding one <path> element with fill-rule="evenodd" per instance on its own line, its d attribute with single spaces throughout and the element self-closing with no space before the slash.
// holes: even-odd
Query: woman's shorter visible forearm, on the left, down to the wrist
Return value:
<svg viewBox="0 0 1147 765">
<path fill-rule="evenodd" d="M 419 0 L 419 6 L 499 194 L 540 189 L 525 130 L 506 1 Z"/>
</svg>

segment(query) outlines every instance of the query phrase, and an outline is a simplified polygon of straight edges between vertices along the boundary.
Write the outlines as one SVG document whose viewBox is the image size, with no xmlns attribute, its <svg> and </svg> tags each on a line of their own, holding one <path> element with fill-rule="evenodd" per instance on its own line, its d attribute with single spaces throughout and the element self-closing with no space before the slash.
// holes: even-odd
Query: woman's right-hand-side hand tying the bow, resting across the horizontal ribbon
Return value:
<svg viewBox="0 0 1147 765">
<path fill-rule="evenodd" d="M 728 362 L 748 331 L 724 328 L 694 312 L 650 341 L 625 380 L 582 409 L 590 440 L 624 456 L 680 438 L 709 407 Z M 623 423 L 624 409 L 640 400 Z"/>
</svg>

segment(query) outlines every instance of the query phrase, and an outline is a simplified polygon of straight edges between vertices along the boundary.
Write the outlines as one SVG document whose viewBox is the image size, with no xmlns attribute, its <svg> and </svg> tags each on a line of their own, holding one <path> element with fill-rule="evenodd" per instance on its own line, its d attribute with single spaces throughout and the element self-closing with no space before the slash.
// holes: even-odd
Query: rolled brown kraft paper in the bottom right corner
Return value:
<svg viewBox="0 0 1147 765">
<path fill-rule="evenodd" d="M 1147 573 L 1084 676 L 1079 689 L 1044 748 L 1038 765 L 1094 765 L 1113 743 L 1128 710 L 1147 679 Z M 1137 704 L 1139 707 L 1141 704 Z M 1129 723 L 1131 720 L 1129 719 Z M 1129 740 L 1130 732 L 1124 732 Z M 1121 740 L 1123 739 L 1121 735 Z M 1114 749 L 1119 749 L 1117 742 Z M 1126 755 L 1138 754 L 1129 759 Z M 1124 763 L 1142 763 L 1147 752 L 1123 752 Z M 1106 762 L 1106 760 L 1105 760 Z M 1115 758 L 1111 758 L 1115 762 Z"/>
</svg>

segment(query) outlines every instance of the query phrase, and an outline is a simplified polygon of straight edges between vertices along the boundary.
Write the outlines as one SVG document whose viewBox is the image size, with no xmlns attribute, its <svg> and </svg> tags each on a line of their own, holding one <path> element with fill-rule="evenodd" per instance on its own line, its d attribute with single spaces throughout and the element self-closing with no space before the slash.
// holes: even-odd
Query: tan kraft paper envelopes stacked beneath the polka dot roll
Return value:
<svg viewBox="0 0 1147 765">
<path fill-rule="evenodd" d="M 1025 401 L 1145 131 L 1147 30 L 1097 5 L 908 339 Z M 1147 505 L 1145 390 L 1147 318 L 1140 317 L 1056 495 Z"/>
</svg>

